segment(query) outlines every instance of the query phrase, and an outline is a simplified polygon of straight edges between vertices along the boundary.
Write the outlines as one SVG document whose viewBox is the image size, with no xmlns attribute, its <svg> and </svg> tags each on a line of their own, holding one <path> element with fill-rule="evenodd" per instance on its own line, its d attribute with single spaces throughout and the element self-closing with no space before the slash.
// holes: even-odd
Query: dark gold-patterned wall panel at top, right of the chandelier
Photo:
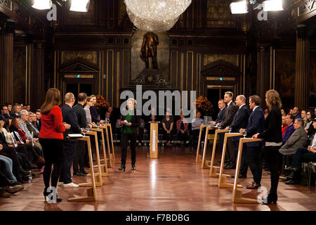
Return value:
<svg viewBox="0 0 316 225">
<path fill-rule="evenodd" d="M 230 13 L 228 0 L 207 1 L 207 27 L 210 28 L 235 28 L 236 16 Z"/>
</svg>

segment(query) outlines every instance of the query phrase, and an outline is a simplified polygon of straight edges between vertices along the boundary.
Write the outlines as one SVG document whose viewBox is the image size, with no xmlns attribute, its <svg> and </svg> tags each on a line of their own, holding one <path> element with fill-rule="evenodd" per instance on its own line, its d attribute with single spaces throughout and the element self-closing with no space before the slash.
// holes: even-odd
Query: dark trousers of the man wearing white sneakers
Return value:
<svg viewBox="0 0 316 225">
<path fill-rule="evenodd" d="M 72 162 L 74 160 L 76 144 L 77 141 L 64 141 L 65 160 L 62 163 L 62 170 L 59 178 L 59 181 L 64 182 L 64 184 L 72 183 L 72 174 L 70 169 L 72 168 Z"/>
</svg>

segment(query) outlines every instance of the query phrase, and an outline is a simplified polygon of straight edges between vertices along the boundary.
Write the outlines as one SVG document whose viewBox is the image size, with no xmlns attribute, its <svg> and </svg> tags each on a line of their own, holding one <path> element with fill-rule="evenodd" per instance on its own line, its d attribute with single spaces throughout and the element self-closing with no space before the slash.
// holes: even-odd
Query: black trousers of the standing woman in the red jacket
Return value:
<svg viewBox="0 0 316 225">
<path fill-rule="evenodd" d="M 45 168 L 43 179 L 45 188 L 49 187 L 51 179 L 51 186 L 56 187 L 60 176 L 62 161 L 64 160 L 64 144 L 61 139 L 39 139 L 41 147 L 43 148 Z M 54 165 L 53 172 L 51 172 L 51 165 Z"/>
</svg>

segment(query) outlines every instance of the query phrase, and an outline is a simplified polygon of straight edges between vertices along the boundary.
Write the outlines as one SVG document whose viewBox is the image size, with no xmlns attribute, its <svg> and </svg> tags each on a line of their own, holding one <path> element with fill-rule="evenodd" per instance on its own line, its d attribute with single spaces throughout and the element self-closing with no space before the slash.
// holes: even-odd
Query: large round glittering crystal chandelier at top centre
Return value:
<svg viewBox="0 0 316 225">
<path fill-rule="evenodd" d="M 170 30 L 192 0 L 124 0 L 133 25 L 140 30 Z"/>
</svg>

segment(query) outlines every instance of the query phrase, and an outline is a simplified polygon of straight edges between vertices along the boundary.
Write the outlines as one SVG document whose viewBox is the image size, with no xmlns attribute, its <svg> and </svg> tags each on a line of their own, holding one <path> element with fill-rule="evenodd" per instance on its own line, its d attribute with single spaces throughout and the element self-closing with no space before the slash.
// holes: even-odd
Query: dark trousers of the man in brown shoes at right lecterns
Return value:
<svg viewBox="0 0 316 225">
<path fill-rule="evenodd" d="M 246 162 L 249 165 L 251 173 L 254 175 L 254 182 L 261 183 L 262 176 L 262 157 L 261 146 L 247 146 Z"/>
</svg>

